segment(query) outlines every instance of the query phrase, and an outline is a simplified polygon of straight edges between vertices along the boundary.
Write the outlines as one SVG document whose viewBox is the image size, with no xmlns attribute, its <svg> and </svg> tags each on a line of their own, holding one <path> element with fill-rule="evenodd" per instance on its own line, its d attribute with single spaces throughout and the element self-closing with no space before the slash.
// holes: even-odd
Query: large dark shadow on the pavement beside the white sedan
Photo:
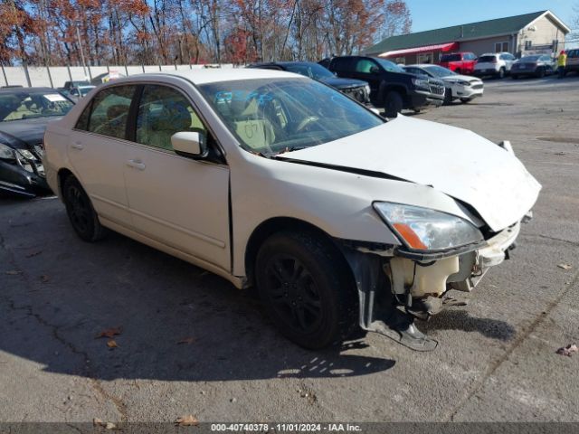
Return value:
<svg viewBox="0 0 579 434">
<path fill-rule="evenodd" d="M 301 349 L 274 330 L 248 291 L 119 234 L 82 242 L 57 200 L 13 205 L 0 229 L 0 351 L 44 371 L 211 382 L 394 366 L 362 355 L 362 341 Z M 111 327 L 121 329 L 112 349 L 108 338 L 96 338 Z"/>
</svg>

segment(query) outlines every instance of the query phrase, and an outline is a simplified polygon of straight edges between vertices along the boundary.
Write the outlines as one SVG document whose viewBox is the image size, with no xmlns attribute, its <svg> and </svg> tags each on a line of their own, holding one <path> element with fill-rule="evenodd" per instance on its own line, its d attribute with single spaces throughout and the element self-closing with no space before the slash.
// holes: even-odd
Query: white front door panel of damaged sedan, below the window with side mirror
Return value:
<svg viewBox="0 0 579 434">
<path fill-rule="evenodd" d="M 139 232 L 231 269 L 229 169 L 148 146 L 128 146 L 125 180 Z"/>
</svg>

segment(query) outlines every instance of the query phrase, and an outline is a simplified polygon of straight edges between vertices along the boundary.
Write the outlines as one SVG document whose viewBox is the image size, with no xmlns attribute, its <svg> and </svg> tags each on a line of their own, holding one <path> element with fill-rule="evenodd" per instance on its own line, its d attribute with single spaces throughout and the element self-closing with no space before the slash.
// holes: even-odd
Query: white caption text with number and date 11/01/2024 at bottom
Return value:
<svg viewBox="0 0 579 434">
<path fill-rule="evenodd" d="M 214 432 L 254 431 L 254 432 L 359 432 L 362 428 L 351 423 L 212 423 Z"/>
</svg>

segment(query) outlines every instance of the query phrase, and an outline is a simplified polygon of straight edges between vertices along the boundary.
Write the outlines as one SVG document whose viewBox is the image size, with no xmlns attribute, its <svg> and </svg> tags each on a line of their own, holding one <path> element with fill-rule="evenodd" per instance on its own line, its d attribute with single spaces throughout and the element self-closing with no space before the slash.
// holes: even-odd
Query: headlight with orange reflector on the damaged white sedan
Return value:
<svg viewBox="0 0 579 434">
<path fill-rule="evenodd" d="M 473 224 L 446 212 L 388 202 L 376 202 L 374 208 L 413 250 L 453 249 L 484 240 Z"/>
</svg>

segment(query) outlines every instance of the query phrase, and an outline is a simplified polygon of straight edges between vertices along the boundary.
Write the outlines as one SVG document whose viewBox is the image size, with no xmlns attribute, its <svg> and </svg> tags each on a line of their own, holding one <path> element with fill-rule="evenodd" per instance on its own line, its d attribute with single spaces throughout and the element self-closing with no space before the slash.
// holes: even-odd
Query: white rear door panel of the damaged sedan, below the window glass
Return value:
<svg viewBox="0 0 579 434">
<path fill-rule="evenodd" d="M 70 137 L 71 165 L 96 212 L 114 222 L 130 224 L 123 174 L 127 142 L 77 130 L 72 130 Z"/>
</svg>

